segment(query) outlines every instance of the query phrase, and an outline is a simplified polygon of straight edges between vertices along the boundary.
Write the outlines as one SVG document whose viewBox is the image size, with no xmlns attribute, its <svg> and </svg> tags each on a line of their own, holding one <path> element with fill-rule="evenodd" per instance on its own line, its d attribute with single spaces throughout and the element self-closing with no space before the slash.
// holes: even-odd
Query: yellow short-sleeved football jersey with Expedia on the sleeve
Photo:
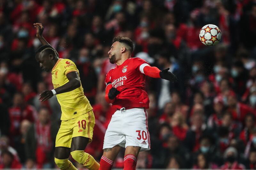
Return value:
<svg viewBox="0 0 256 170">
<path fill-rule="evenodd" d="M 52 68 L 52 84 L 54 89 L 68 83 L 69 80 L 66 75 L 72 71 L 76 71 L 79 74 L 76 64 L 69 59 L 60 58 Z M 60 119 L 62 121 L 73 119 L 92 110 L 89 100 L 84 96 L 82 85 L 75 90 L 57 94 L 56 96 L 61 107 Z"/>
</svg>

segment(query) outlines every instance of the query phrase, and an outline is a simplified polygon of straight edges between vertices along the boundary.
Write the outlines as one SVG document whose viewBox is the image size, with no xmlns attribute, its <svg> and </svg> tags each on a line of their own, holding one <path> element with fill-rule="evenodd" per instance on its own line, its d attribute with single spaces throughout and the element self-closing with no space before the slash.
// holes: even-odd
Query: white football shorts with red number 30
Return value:
<svg viewBox="0 0 256 170">
<path fill-rule="evenodd" d="M 145 108 L 117 110 L 112 115 L 104 137 L 103 149 L 119 145 L 140 146 L 140 151 L 150 150 L 148 113 Z"/>
</svg>

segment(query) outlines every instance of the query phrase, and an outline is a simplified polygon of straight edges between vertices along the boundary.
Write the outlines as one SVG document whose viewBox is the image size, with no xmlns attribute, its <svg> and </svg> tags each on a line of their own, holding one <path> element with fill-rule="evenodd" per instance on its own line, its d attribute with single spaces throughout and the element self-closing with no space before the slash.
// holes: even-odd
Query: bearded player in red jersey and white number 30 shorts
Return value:
<svg viewBox="0 0 256 170">
<path fill-rule="evenodd" d="M 109 70 L 106 76 L 105 99 L 112 103 L 116 112 L 104 137 L 100 170 L 112 168 L 121 147 L 125 147 L 124 170 L 135 169 L 139 152 L 150 150 L 146 76 L 177 81 L 169 68 L 161 71 L 151 67 L 143 59 L 132 58 L 132 51 L 132 40 L 126 37 L 115 37 L 108 51 L 109 62 L 116 63 L 116 67 Z"/>
</svg>

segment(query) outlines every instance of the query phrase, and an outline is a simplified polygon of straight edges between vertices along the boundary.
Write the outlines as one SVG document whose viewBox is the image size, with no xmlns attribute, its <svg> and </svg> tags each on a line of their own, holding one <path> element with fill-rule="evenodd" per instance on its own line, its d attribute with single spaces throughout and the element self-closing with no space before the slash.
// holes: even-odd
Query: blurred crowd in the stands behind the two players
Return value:
<svg viewBox="0 0 256 170">
<path fill-rule="evenodd" d="M 35 60 L 35 22 L 77 65 L 96 117 L 85 150 L 95 159 L 115 112 L 104 80 L 120 35 L 134 42 L 133 57 L 178 77 L 146 80 L 152 149 L 140 152 L 138 168 L 256 169 L 255 0 L 0 0 L 0 169 L 55 167 L 61 111 L 56 96 L 38 100 L 53 86 Z M 217 46 L 200 42 L 206 24 L 219 26 Z"/>
</svg>

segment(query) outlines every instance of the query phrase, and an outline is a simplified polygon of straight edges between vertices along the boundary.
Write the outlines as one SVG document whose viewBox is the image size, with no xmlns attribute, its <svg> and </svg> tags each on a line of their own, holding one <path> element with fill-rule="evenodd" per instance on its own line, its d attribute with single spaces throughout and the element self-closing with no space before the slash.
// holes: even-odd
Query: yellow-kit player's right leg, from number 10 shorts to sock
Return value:
<svg viewBox="0 0 256 170">
<path fill-rule="evenodd" d="M 72 120 L 73 134 L 71 142 L 71 155 L 78 163 L 89 170 L 98 170 L 100 164 L 84 149 L 92 141 L 95 118 L 92 111 L 80 115 Z"/>
</svg>

